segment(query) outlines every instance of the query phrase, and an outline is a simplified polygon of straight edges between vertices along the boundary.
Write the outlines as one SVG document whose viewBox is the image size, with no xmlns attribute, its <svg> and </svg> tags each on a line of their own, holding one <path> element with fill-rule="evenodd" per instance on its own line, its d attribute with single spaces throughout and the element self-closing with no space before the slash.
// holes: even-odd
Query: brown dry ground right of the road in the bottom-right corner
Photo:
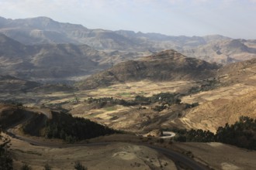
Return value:
<svg viewBox="0 0 256 170">
<path fill-rule="evenodd" d="M 178 143 L 175 146 L 192 151 L 194 159 L 205 162 L 214 169 L 222 170 L 254 170 L 256 168 L 256 151 L 248 151 L 221 143 Z"/>
</svg>

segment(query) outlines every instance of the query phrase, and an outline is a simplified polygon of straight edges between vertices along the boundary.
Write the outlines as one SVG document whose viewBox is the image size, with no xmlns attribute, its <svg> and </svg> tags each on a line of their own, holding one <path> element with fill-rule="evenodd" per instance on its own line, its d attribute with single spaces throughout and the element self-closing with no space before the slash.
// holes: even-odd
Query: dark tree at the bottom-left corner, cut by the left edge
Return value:
<svg viewBox="0 0 256 170">
<path fill-rule="evenodd" d="M 0 169 L 12 170 L 12 157 L 9 153 L 9 138 L 2 136 L 2 130 L 0 129 Z"/>
</svg>

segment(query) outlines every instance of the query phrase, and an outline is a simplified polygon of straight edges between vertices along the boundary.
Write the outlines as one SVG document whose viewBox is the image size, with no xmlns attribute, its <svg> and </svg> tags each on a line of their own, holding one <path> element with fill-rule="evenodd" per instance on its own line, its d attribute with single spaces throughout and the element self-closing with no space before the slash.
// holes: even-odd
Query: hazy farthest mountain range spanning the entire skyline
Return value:
<svg viewBox="0 0 256 170">
<path fill-rule="evenodd" d="M 0 18 L 0 32 L 26 44 L 73 43 L 104 51 L 159 52 L 175 49 L 185 56 L 216 63 L 234 63 L 256 57 L 255 40 L 213 36 L 166 36 L 126 30 L 88 29 L 56 22 L 47 17 L 30 19 Z"/>
</svg>

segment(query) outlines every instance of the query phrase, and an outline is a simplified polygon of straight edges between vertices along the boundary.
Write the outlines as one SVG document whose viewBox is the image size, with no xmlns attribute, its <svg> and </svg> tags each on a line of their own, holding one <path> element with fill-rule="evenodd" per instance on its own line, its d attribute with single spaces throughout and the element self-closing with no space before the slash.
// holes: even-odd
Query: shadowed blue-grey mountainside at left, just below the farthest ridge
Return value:
<svg viewBox="0 0 256 170">
<path fill-rule="evenodd" d="M 2 75 L 26 80 L 64 80 L 104 70 L 137 53 L 104 53 L 87 45 L 44 44 L 26 46 L 0 34 L 0 71 Z"/>
</svg>

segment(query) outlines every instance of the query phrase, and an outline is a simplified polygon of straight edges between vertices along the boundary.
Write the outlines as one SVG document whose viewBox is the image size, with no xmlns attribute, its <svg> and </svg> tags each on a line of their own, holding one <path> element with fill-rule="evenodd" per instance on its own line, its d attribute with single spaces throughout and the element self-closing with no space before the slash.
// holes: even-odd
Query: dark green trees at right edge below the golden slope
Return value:
<svg viewBox="0 0 256 170">
<path fill-rule="evenodd" d="M 195 141 L 195 142 L 222 142 L 236 145 L 240 148 L 256 150 L 256 119 L 250 117 L 240 117 L 235 124 L 226 124 L 219 127 L 216 134 L 210 131 L 198 130 L 178 130 L 173 129 L 178 135 L 175 141 Z"/>
</svg>

